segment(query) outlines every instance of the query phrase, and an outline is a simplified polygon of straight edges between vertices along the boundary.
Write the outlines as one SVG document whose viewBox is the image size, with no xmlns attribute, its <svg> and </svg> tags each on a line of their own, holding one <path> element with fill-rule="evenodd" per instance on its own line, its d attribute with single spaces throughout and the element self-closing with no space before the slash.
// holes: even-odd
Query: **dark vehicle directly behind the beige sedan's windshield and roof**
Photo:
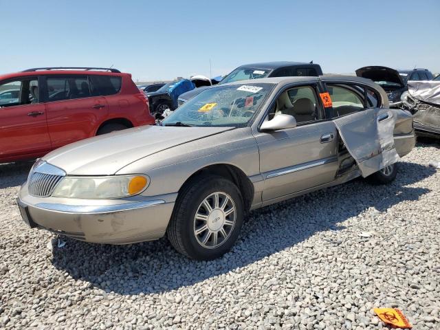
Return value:
<svg viewBox="0 0 440 330">
<path fill-rule="evenodd" d="M 302 62 L 267 62 L 241 65 L 225 76 L 219 84 L 232 83 L 239 80 L 248 80 L 267 77 L 286 77 L 286 76 L 322 76 L 320 65 Z M 193 98 L 201 91 L 209 87 L 200 87 L 192 91 L 187 91 L 179 96 L 177 104 L 180 106 L 190 98 Z"/>
</svg>

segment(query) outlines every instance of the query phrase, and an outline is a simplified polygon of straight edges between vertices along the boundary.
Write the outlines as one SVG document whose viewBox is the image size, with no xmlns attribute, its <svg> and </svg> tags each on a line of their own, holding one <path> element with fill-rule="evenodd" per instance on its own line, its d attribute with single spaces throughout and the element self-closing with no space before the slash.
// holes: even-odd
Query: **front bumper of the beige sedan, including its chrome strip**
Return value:
<svg viewBox="0 0 440 330">
<path fill-rule="evenodd" d="M 149 200 L 112 200 L 107 204 L 90 201 L 89 205 L 72 200 L 77 204 L 73 205 L 56 203 L 55 197 L 32 197 L 24 187 L 17 203 L 23 221 L 31 228 L 91 243 L 128 244 L 164 236 L 174 207 L 170 195 Z"/>
</svg>

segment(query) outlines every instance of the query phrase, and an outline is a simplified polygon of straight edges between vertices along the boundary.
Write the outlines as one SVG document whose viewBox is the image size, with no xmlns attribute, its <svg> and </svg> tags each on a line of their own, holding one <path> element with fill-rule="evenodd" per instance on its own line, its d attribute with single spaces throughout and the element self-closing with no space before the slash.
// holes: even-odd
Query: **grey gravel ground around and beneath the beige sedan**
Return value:
<svg viewBox="0 0 440 330">
<path fill-rule="evenodd" d="M 358 179 L 252 212 L 232 252 L 189 261 L 166 239 L 95 245 L 21 222 L 31 164 L 0 165 L 0 328 L 382 329 L 398 307 L 440 329 L 439 145 L 418 144 L 396 181 Z"/>
</svg>

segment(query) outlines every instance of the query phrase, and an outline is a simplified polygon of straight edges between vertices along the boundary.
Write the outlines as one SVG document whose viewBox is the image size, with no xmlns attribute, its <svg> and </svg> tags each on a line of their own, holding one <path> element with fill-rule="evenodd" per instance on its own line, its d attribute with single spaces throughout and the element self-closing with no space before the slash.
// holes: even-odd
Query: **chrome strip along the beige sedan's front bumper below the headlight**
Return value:
<svg viewBox="0 0 440 330">
<path fill-rule="evenodd" d="M 35 208 L 42 210 L 50 210 L 63 213 L 81 213 L 81 214 L 103 214 L 111 212 L 121 212 L 126 210 L 135 210 L 137 208 L 148 208 L 165 203 L 162 199 L 153 201 L 138 201 L 135 203 L 101 205 L 101 206 L 86 206 L 86 205 L 66 205 L 57 203 L 37 203 Z M 32 207 L 32 206 L 31 206 Z"/>
</svg>

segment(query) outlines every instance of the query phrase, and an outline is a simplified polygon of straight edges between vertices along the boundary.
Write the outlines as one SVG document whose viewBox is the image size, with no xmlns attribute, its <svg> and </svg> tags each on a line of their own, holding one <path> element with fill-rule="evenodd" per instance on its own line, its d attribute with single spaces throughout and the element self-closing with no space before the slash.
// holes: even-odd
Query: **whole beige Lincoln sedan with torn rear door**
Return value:
<svg viewBox="0 0 440 330">
<path fill-rule="evenodd" d="M 39 159 L 17 199 L 23 220 L 109 244 L 159 239 L 197 260 L 228 252 L 243 218 L 366 177 L 386 184 L 415 146 L 410 113 L 352 76 L 217 85 L 157 126 L 93 137 Z"/>
</svg>

